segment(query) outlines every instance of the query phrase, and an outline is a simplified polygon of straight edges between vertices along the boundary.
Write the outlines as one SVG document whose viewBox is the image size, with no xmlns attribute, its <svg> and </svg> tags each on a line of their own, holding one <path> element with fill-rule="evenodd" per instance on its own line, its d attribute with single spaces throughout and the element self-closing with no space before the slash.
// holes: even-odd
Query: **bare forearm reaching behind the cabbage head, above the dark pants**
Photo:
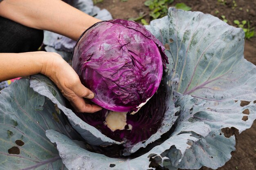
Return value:
<svg viewBox="0 0 256 170">
<path fill-rule="evenodd" d="M 65 35 L 73 40 L 100 20 L 61 0 L 4 0 L 0 16 L 25 26 Z"/>
</svg>

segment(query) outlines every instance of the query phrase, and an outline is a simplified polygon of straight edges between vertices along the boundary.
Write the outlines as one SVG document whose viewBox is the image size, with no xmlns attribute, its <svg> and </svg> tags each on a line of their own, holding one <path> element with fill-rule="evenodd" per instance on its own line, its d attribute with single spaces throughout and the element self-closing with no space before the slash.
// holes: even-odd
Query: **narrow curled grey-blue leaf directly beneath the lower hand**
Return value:
<svg viewBox="0 0 256 170">
<path fill-rule="evenodd" d="M 90 126 L 79 117 L 77 117 L 75 113 L 72 112 L 72 110 L 66 108 L 64 106 L 65 103 L 61 100 L 61 93 L 48 77 L 45 77 L 43 75 L 31 76 L 30 84 L 31 88 L 33 88 L 34 91 L 38 92 L 40 95 L 49 98 L 54 104 L 58 106 L 58 108 L 63 111 L 63 113 L 69 119 L 72 127 L 77 132 L 79 132 L 79 134 L 86 140 L 86 142 L 88 142 L 88 144 L 102 146 L 107 146 L 110 144 L 120 144 L 120 142 L 106 137 L 99 130 L 97 130 L 93 126 Z"/>
</svg>

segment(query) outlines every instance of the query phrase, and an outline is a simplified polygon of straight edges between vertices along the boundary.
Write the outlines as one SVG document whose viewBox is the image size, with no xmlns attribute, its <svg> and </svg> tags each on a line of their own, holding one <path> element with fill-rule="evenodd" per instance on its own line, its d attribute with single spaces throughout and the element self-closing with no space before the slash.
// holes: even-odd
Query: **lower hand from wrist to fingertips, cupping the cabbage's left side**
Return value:
<svg viewBox="0 0 256 170">
<path fill-rule="evenodd" d="M 94 113 L 102 108 L 89 104 L 84 98 L 92 99 L 94 94 L 81 84 L 74 69 L 57 53 L 47 52 L 41 73 L 49 77 L 60 89 L 77 112 Z"/>
</svg>

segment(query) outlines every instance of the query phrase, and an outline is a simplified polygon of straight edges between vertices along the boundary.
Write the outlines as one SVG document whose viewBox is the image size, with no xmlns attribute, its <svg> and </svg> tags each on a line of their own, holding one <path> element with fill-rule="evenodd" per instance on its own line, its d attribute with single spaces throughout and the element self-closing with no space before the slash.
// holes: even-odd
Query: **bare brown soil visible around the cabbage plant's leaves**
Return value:
<svg viewBox="0 0 256 170">
<path fill-rule="evenodd" d="M 110 11 L 113 18 L 128 19 L 138 17 L 139 13 L 148 14 L 148 7 L 144 6 L 146 0 L 103 0 L 96 4 L 101 9 L 105 8 Z M 251 23 L 251 27 L 256 27 L 256 0 L 223 0 L 225 4 L 218 2 L 222 0 L 174 0 L 170 6 L 183 2 L 191 11 L 201 11 L 210 13 L 211 15 L 221 18 L 225 15 L 228 24 L 235 26 L 234 20 L 247 20 Z M 236 3 L 236 7 L 234 7 Z M 218 12 L 216 12 L 218 11 Z M 145 19 L 149 22 L 150 17 L 147 15 Z M 245 40 L 245 59 L 256 65 L 256 37 Z M 231 128 L 225 129 L 225 133 L 235 134 L 236 151 L 231 152 L 231 159 L 218 170 L 256 170 L 256 121 L 252 128 L 245 130 L 238 135 L 238 132 Z M 211 170 L 203 167 L 200 170 Z"/>
</svg>

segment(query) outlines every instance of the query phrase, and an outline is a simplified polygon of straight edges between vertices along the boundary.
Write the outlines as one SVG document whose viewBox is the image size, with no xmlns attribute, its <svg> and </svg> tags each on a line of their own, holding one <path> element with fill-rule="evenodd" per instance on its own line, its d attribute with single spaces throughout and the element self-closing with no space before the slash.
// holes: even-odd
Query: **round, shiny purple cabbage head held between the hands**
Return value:
<svg viewBox="0 0 256 170">
<path fill-rule="evenodd" d="M 164 46 L 144 26 L 127 20 L 94 24 L 77 42 L 72 65 L 95 97 L 117 112 L 137 111 L 153 96 L 168 59 Z"/>
</svg>

